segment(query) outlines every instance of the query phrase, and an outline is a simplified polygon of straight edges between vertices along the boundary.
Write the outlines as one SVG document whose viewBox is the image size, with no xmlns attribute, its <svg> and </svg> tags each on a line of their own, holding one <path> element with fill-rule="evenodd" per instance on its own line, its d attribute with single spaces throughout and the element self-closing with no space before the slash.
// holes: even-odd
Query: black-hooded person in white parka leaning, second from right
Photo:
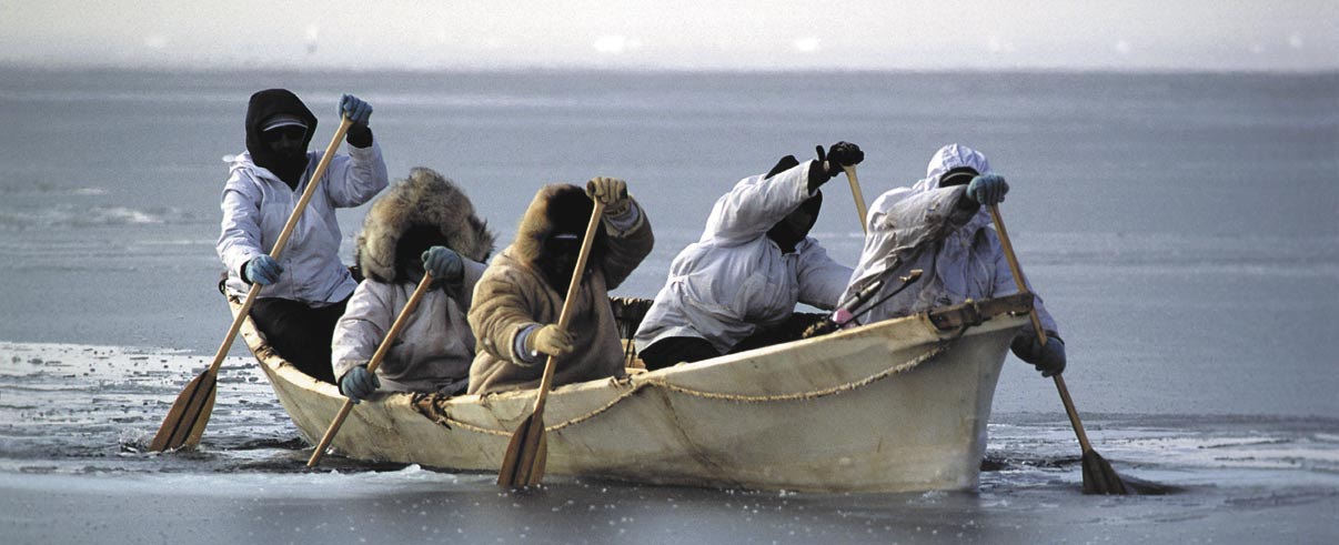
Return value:
<svg viewBox="0 0 1339 545">
<path fill-rule="evenodd" d="M 809 230 L 822 206 L 818 187 L 865 154 L 849 142 L 817 153 L 803 163 L 786 155 L 716 201 L 702 238 L 675 257 L 637 328 L 647 368 L 765 345 L 795 303 L 837 305 L 852 269 L 829 258 Z"/>
</svg>

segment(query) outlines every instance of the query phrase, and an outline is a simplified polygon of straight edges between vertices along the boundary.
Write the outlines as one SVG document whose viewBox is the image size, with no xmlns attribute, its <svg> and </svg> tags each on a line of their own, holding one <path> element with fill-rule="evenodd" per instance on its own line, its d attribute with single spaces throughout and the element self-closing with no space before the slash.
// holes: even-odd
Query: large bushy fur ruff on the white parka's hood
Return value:
<svg viewBox="0 0 1339 545">
<path fill-rule="evenodd" d="M 400 236 L 414 225 L 437 226 L 446 246 L 461 257 L 483 262 L 493 253 L 487 222 L 474 213 L 474 204 L 455 182 L 432 169 L 414 167 L 372 204 L 358 236 L 356 261 L 363 275 L 382 283 L 396 279 L 395 250 Z M 403 275 L 400 275 L 403 276 Z"/>
</svg>

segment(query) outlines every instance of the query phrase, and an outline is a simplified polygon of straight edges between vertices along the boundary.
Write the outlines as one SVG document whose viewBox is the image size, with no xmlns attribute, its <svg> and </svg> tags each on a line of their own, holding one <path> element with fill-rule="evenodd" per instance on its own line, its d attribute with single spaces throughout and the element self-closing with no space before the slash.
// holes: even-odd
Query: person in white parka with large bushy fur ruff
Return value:
<svg viewBox="0 0 1339 545">
<path fill-rule="evenodd" d="M 372 204 L 358 237 L 367 277 L 335 327 L 332 364 L 340 391 L 360 400 L 378 388 L 459 394 L 474 360 L 466 319 L 494 236 L 450 179 L 418 167 Z M 367 363 L 427 269 L 434 288 L 407 316 L 376 370 Z"/>
</svg>

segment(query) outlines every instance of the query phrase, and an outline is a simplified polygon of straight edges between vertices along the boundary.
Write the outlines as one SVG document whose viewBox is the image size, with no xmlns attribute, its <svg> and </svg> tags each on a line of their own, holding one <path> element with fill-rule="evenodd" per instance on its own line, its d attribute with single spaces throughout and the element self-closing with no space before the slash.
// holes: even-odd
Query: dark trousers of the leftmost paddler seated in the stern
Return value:
<svg viewBox="0 0 1339 545">
<path fill-rule="evenodd" d="M 333 384 L 331 337 L 347 304 L 348 297 L 320 308 L 288 299 L 257 299 L 252 320 L 280 356 L 312 378 Z"/>
</svg>

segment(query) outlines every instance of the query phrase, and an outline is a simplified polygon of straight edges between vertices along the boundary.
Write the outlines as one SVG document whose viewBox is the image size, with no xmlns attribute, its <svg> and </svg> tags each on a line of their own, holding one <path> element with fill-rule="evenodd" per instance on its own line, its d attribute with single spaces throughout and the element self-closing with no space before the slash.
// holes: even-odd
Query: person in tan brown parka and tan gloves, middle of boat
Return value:
<svg viewBox="0 0 1339 545">
<path fill-rule="evenodd" d="M 568 331 L 557 327 L 593 200 L 605 204 Z M 516 241 L 474 288 L 470 325 L 479 351 L 470 394 L 534 388 L 546 355 L 558 358 L 553 386 L 623 376 L 623 345 L 609 307 L 655 244 L 645 212 L 620 179 L 595 178 L 586 191 L 548 185 L 530 202 Z"/>
</svg>

